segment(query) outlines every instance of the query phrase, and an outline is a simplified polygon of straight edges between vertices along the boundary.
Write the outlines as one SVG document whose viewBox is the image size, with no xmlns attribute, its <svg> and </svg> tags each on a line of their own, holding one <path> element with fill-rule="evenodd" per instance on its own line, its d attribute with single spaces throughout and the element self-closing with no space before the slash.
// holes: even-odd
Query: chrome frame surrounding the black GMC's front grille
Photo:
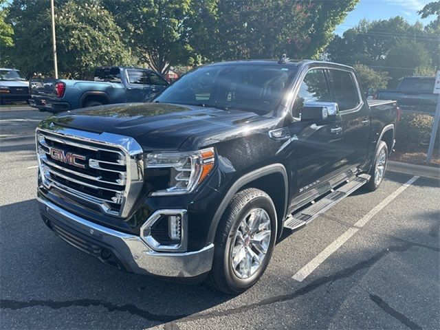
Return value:
<svg viewBox="0 0 440 330">
<path fill-rule="evenodd" d="M 64 137 L 69 140 L 78 140 L 78 142 L 89 142 L 91 144 L 98 144 L 102 145 L 103 148 L 105 148 L 106 146 L 111 146 L 122 151 L 126 158 L 126 186 L 125 189 L 122 191 L 122 202 L 120 203 L 120 211 L 118 212 L 118 214 L 115 214 L 114 211 L 109 212 L 109 208 L 106 206 L 106 204 L 102 204 L 101 208 L 105 213 L 115 215 L 117 217 L 126 218 L 129 216 L 133 209 L 135 200 L 140 195 L 140 191 L 142 190 L 142 186 L 144 184 L 144 152 L 142 150 L 142 147 L 135 141 L 135 139 L 133 139 L 133 137 L 107 132 L 93 133 L 80 131 L 77 129 L 69 129 L 63 126 L 58 126 L 56 124 L 50 124 L 50 129 L 43 129 L 41 127 L 37 127 L 36 129 L 37 155 L 39 155 L 39 133 L 56 135 L 57 137 Z M 85 148 L 87 148 L 87 145 L 85 146 Z M 112 152 L 118 153 L 118 151 Z M 38 157 L 38 162 L 41 179 L 43 183 L 46 182 L 47 184 L 47 180 L 43 175 L 44 164 L 41 161 L 40 157 Z M 50 186 L 48 188 L 50 188 Z M 78 197 L 85 199 L 81 196 Z M 96 201 L 91 202 L 96 203 Z"/>
</svg>

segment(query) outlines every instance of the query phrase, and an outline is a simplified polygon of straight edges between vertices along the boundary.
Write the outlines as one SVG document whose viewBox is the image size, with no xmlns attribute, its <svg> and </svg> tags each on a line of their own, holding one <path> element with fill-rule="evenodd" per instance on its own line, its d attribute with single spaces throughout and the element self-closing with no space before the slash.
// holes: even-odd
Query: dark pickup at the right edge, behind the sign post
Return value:
<svg viewBox="0 0 440 330">
<path fill-rule="evenodd" d="M 377 100 L 397 100 L 402 110 L 435 113 L 439 97 L 434 94 L 435 77 L 406 77 L 397 89 L 379 89 Z"/>
</svg>

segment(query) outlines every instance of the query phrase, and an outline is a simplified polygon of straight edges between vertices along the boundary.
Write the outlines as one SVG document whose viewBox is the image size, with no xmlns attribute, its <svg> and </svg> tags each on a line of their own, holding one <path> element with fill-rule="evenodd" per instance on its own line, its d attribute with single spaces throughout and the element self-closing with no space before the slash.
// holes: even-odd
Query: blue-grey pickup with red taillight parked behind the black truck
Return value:
<svg viewBox="0 0 440 330">
<path fill-rule="evenodd" d="M 94 80 L 33 79 L 30 105 L 53 113 L 101 104 L 145 102 L 168 87 L 157 72 L 137 67 L 97 67 Z"/>
</svg>

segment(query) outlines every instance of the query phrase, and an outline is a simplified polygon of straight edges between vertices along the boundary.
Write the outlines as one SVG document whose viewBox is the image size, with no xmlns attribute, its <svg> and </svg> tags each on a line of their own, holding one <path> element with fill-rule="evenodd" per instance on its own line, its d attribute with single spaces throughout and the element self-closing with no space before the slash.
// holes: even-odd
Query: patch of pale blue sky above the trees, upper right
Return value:
<svg viewBox="0 0 440 330">
<path fill-rule="evenodd" d="M 401 16 L 410 23 L 421 21 L 426 24 L 432 19 L 420 19 L 417 12 L 424 5 L 434 0 L 360 0 L 356 8 L 349 13 L 347 19 L 336 28 L 336 34 L 343 34 L 344 31 L 358 25 L 361 19 L 373 21 L 376 19 L 389 19 L 390 17 Z"/>
</svg>

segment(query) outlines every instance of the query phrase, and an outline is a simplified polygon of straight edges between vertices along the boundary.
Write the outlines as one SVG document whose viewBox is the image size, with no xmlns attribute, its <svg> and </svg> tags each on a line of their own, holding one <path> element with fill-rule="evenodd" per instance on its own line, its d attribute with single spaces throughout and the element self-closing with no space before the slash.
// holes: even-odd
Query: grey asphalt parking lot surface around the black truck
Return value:
<svg viewBox="0 0 440 330">
<path fill-rule="evenodd" d="M 2 329 L 439 329 L 437 179 L 388 172 L 286 233 L 232 297 L 114 270 L 54 236 L 35 201 L 31 135 L 46 115 L 0 111 Z"/>
</svg>

